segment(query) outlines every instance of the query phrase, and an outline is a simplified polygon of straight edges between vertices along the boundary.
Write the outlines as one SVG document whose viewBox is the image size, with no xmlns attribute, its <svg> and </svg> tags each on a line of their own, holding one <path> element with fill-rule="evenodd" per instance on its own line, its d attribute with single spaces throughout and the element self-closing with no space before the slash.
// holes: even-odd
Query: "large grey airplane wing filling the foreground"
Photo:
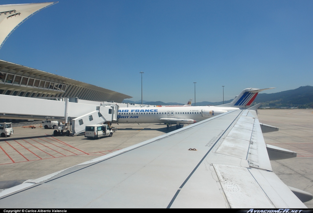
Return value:
<svg viewBox="0 0 313 213">
<path fill-rule="evenodd" d="M 229 111 L 3 190 L 0 206 L 306 208 L 273 173 L 254 110 Z"/>
</svg>

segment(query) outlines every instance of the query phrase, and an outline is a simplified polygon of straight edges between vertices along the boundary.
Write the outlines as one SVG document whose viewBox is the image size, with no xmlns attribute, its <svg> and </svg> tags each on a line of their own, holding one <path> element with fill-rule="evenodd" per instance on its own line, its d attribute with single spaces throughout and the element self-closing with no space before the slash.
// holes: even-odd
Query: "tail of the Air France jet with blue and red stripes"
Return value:
<svg viewBox="0 0 313 213">
<path fill-rule="evenodd" d="M 267 89 L 274 89 L 267 88 Z M 238 108 L 249 108 L 249 106 L 252 104 L 256 96 L 259 92 L 266 90 L 266 89 L 256 89 L 256 88 L 247 88 L 244 89 L 238 96 L 236 96 L 233 101 L 229 104 L 222 104 L 218 106 L 223 107 L 238 107 Z"/>
</svg>

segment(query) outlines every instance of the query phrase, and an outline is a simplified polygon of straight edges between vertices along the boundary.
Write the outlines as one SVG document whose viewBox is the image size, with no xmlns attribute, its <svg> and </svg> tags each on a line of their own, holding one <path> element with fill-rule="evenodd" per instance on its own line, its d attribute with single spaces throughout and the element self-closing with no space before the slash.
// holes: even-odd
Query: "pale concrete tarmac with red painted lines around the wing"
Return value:
<svg viewBox="0 0 313 213">
<path fill-rule="evenodd" d="M 263 134 L 265 143 L 297 152 L 297 157 L 271 161 L 275 174 L 286 184 L 313 194 L 313 110 L 259 109 L 259 121 L 279 128 Z M 84 134 L 53 136 L 41 121 L 13 124 L 14 134 L 0 138 L 0 181 L 29 180 L 49 175 L 101 155 L 176 130 L 165 124 L 113 124 L 112 137 L 89 140 Z M 34 125 L 36 128 L 23 128 Z M 313 200 L 305 202 L 313 208 Z"/>
</svg>

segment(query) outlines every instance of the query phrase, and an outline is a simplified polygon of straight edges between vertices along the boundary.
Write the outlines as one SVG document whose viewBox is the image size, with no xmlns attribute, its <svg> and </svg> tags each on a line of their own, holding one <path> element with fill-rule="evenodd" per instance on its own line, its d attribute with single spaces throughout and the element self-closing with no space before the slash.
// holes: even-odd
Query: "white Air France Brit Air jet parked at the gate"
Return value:
<svg viewBox="0 0 313 213">
<path fill-rule="evenodd" d="M 244 89 L 231 103 L 218 106 L 122 107 L 117 113 L 117 123 L 167 123 L 176 124 L 176 129 L 179 129 L 182 124 L 193 124 L 231 110 L 249 108 L 263 90 L 266 89 Z"/>
</svg>

